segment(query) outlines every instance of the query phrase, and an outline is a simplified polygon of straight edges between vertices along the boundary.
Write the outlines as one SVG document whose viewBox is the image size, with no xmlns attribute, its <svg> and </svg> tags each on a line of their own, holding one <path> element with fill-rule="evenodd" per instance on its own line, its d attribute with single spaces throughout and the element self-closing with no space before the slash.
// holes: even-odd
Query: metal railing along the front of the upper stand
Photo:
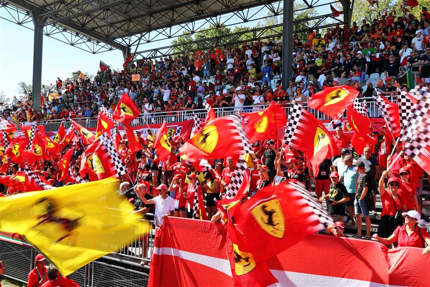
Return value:
<svg viewBox="0 0 430 287">
<path fill-rule="evenodd" d="M 371 117 L 381 117 L 380 111 L 376 105 L 376 102 L 373 98 L 366 98 L 367 108 L 369 111 L 369 116 Z M 291 106 L 291 103 L 284 104 L 283 109 L 288 114 L 288 108 Z M 304 107 L 307 107 L 306 103 L 303 103 Z M 254 112 L 260 111 L 264 108 L 268 107 L 268 105 L 252 105 L 252 106 L 243 106 L 240 112 Z M 330 119 L 324 113 L 311 109 L 307 107 L 307 109 L 318 119 L 326 120 Z M 227 116 L 237 113 L 238 109 L 234 107 L 228 108 L 214 108 L 213 109 L 218 117 Z M 206 110 L 197 109 L 192 111 L 174 111 L 174 112 L 155 112 L 150 114 L 140 114 L 137 118 L 132 121 L 132 127 L 145 126 L 149 124 L 162 124 L 163 120 L 166 121 L 167 124 L 171 124 L 173 122 L 179 122 L 184 120 L 189 120 L 194 118 L 194 114 L 197 114 L 198 117 L 205 117 Z M 97 128 L 97 118 L 74 118 L 79 125 L 85 128 Z M 53 120 L 44 120 L 37 121 L 38 125 L 42 125 L 45 127 L 46 132 L 57 132 L 60 128 L 62 120 L 61 119 L 53 119 Z M 15 124 L 17 130 L 21 130 L 20 124 Z M 66 121 L 65 128 L 68 129 L 70 127 L 70 121 Z"/>
</svg>

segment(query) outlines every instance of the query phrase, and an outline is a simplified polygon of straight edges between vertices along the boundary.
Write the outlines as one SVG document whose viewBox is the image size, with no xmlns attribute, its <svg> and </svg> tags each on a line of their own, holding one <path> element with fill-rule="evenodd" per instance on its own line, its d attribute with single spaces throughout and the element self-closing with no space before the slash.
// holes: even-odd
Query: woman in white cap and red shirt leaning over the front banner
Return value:
<svg viewBox="0 0 430 287">
<path fill-rule="evenodd" d="M 430 253 L 430 236 L 425 228 L 420 228 L 418 226 L 418 221 L 421 219 L 419 213 L 410 210 L 402 215 L 405 217 L 405 224 L 403 226 L 398 226 L 390 237 L 383 238 L 379 237 L 378 234 L 373 234 L 373 238 L 385 245 L 390 245 L 397 241 L 399 247 L 424 248 L 424 243 L 427 243 L 427 247 L 424 248 L 422 254 Z"/>
</svg>

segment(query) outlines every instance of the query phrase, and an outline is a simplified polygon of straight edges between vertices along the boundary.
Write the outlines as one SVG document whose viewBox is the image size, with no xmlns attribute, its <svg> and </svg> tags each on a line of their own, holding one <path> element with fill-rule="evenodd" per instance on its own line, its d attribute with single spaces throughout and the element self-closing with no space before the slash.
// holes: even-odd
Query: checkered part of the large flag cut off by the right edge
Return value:
<svg viewBox="0 0 430 287">
<path fill-rule="evenodd" d="M 413 105 L 412 112 L 408 115 L 400 132 L 401 140 L 411 139 L 414 131 L 417 130 L 420 123 L 426 122 L 426 118 L 428 117 L 430 103 L 427 99 L 430 98 L 430 93 L 428 93 L 428 88 L 426 87 L 423 87 L 418 91 L 418 101 Z"/>
</svg>

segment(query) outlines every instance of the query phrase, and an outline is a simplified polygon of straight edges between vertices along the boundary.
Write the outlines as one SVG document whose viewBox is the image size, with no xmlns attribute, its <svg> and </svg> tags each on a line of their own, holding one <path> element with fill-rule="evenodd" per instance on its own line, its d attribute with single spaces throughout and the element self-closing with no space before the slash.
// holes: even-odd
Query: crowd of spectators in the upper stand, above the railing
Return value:
<svg viewBox="0 0 430 287">
<path fill-rule="evenodd" d="M 40 112 L 31 108 L 31 94 L 26 93 L 22 99 L 14 97 L 10 106 L 0 103 L 0 112 L 17 122 L 96 117 L 101 105 L 112 111 L 123 93 L 145 114 L 201 109 L 203 103 L 240 110 L 271 101 L 306 102 L 326 86 L 351 85 L 370 96 L 377 81 L 386 96 L 405 89 L 401 75 L 409 68 L 416 84 L 428 86 L 429 21 L 430 13 L 422 8 L 419 19 L 390 12 L 371 23 L 313 30 L 303 43 L 294 35 L 288 83 L 279 77 L 282 39 L 274 37 L 175 58 L 140 59 L 119 72 L 99 71 L 93 80 L 78 72 L 73 79 L 57 78 L 56 85 L 42 87 Z M 369 80 L 373 73 L 381 78 Z M 132 81 L 132 75 L 140 79 Z M 57 91 L 59 95 L 49 96 Z"/>
</svg>

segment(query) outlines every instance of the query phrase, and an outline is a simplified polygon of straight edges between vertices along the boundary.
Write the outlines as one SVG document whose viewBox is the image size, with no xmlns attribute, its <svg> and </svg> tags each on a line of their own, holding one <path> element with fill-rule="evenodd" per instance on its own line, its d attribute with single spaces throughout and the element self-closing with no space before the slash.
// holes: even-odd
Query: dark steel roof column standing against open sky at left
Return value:
<svg viewBox="0 0 430 287">
<path fill-rule="evenodd" d="M 43 37 L 44 25 L 38 24 L 38 14 L 34 11 L 31 13 L 34 23 L 34 43 L 33 43 L 33 91 L 32 100 L 33 108 L 40 110 L 40 92 L 42 87 L 42 54 L 43 54 Z M 48 95 L 47 95 L 48 96 Z"/>
</svg>

